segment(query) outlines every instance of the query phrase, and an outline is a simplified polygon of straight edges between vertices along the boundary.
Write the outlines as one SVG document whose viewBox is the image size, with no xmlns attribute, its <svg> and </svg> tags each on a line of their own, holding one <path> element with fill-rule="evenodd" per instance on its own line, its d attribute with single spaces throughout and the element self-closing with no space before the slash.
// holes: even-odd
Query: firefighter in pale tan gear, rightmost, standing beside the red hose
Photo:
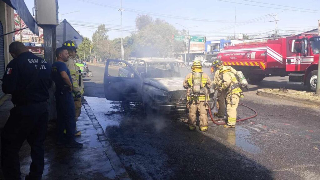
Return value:
<svg viewBox="0 0 320 180">
<path fill-rule="evenodd" d="M 220 80 L 217 86 L 218 91 L 226 92 L 228 122 L 223 127 L 236 127 L 237 107 L 241 97 L 244 97 L 238 85 L 236 75 L 231 71 L 230 66 L 223 66 L 219 70 Z"/>
</svg>

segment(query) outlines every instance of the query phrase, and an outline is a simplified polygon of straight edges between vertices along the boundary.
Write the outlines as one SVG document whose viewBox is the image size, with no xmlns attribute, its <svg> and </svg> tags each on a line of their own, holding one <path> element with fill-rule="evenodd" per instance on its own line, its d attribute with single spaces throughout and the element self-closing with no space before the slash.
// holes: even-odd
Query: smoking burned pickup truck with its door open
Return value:
<svg viewBox="0 0 320 180">
<path fill-rule="evenodd" d="M 182 84 L 189 72 L 186 64 L 177 59 L 138 58 L 132 64 L 108 60 L 105 97 L 112 101 L 143 102 L 147 113 L 186 113 L 186 89 Z"/>
</svg>

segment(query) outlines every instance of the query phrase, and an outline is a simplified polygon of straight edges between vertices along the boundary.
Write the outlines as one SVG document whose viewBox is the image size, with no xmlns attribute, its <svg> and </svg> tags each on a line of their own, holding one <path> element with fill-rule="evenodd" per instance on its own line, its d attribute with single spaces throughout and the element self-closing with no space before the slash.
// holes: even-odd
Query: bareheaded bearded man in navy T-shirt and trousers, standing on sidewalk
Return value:
<svg viewBox="0 0 320 180">
<path fill-rule="evenodd" d="M 69 53 L 64 47 L 56 49 L 57 61 L 52 64 L 52 80 L 56 85 L 55 97 L 57 105 L 57 145 L 70 148 L 81 148 L 82 143 L 75 141 L 76 121 L 75 103 L 72 97 L 72 78 L 65 62 Z M 66 137 L 63 133 L 66 128 Z"/>
</svg>

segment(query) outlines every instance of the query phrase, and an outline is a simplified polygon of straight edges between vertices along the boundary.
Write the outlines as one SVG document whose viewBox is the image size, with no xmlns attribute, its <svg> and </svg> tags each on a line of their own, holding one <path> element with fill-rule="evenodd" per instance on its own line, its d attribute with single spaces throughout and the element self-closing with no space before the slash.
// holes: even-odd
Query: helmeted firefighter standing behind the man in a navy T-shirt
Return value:
<svg viewBox="0 0 320 180">
<path fill-rule="evenodd" d="M 68 70 L 70 70 L 70 75 L 72 78 L 72 96 L 75 102 L 76 116 L 75 121 L 77 122 L 78 117 L 81 114 L 81 97 L 84 93 L 83 80 L 81 78 L 81 70 L 73 61 L 76 58 L 76 46 L 73 41 L 66 41 L 63 43 L 63 46 L 68 50 L 69 59 L 65 64 L 67 65 Z M 81 135 L 81 131 L 76 130 L 76 136 Z"/>
</svg>

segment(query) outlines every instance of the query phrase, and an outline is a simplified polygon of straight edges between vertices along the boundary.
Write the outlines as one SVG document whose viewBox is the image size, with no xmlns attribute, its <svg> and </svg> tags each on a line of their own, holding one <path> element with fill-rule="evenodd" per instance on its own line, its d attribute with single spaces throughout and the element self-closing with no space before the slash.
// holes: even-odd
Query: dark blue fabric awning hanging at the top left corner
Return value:
<svg viewBox="0 0 320 180">
<path fill-rule="evenodd" d="M 26 4 L 23 0 L 2 0 L 4 3 L 8 4 L 19 14 L 24 23 L 28 28 L 37 36 L 39 36 L 39 29 L 36 20 L 30 14 Z"/>
</svg>

